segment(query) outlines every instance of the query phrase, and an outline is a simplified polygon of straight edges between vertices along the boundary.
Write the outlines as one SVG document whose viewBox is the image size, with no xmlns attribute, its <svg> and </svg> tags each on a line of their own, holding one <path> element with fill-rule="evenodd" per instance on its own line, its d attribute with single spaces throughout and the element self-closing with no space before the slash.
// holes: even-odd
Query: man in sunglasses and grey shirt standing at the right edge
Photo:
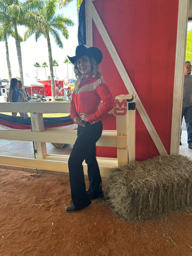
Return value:
<svg viewBox="0 0 192 256">
<path fill-rule="evenodd" d="M 190 61 L 185 62 L 181 123 L 183 116 L 185 117 L 187 128 L 188 148 L 192 149 L 192 75 Z"/>
</svg>

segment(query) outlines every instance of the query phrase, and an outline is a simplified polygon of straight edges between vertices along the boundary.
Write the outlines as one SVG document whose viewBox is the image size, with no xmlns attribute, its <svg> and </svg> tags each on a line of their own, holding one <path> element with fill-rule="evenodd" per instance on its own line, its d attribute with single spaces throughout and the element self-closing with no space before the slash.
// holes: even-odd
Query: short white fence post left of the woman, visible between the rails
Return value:
<svg viewBox="0 0 192 256">
<path fill-rule="evenodd" d="M 30 119 L 33 132 L 42 132 L 45 130 L 43 123 L 43 114 L 30 113 Z M 44 157 L 47 155 L 45 142 L 34 142 L 34 149 L 36 159 L 44 159 Z"/>
</svg>

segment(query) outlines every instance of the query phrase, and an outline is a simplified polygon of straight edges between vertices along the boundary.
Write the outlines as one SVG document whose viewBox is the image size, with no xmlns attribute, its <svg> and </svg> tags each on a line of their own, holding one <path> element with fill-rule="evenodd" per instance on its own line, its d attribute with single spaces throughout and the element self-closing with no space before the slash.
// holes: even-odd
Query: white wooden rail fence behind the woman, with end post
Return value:
<svg viewBox="0 0 192 256">
<path fill-rule="evenodd" d="M 116 147 L 117 158 L 97 157 L 102 177 L 106 177 L 113 167 L 121 166 L 135 160 L 135 95 L 119 95 L 116 97 L 116 107 L 109 114 L 115 113 L 117 130 L 103 130 L 97 146 Z M 127 111 L 122 115 L 125 104 L 118 102 L 127 99 Z M 69 155 L 48 155 L 46 142 L 74 144 L 77 132 L 75 130 L 45 130 L 44 113 L 69 113 L 69 102 L 25 102 L 0 103 L 1 113 L 28 112 L 30 113 L 33 131 L 0 130 L 0 140 L 34 141 L 35 158 L 13 157 L 0 155 L 0 164 L 41 169 L 48 171 L 68 172 Z M 115 110 L 115 111 L 114 111 Z M 122 115 L 122 116 L 119 116 Z M 1 141 L 0 141 L 1 143 Z M 3 151 L 3 150 L 2 150 Z M 83 164 L 85 173 L 86 164 Z"/>
</svg>

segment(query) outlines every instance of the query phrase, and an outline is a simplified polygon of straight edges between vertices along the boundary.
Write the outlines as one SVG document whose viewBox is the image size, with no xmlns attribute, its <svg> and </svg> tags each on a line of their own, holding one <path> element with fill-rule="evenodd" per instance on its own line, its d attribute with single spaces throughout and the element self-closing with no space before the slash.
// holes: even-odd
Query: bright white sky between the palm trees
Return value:
<svg viewBox="0 0 192 256">
<path fill-rule="evenodd" d="M 60 49 L 59 46 L 56 45 L 54 39 L 51 38 L 51 47 L 52 47 L 52 58 L 53 60 L 58 61 L 59 67 L 56 67 L 57 77 L 59 79 L 65 79 L 67 77 L 67 64 L 63 63 L 65 59 L 67 59 L 67 55 L 74 56 L 75 49 L 78 45 L 77 39 L 77 30 L 78 30 L 78 19 L 77 19 L 77 6 L 76 1 L 72 1 L 68 4 L 67 7 L 63 8 L 60 11 L 65 17 L 70 18 L 74 21 L 75 25 L 73 27 L 68 27 L 69 38 L 65 39 L 61 35 L 61 39 L 63 42 L 63 49 Z M 26 28 L 19 27 L 18 31 L 21 36 L 24 35 Z M 11 63 L 11 73 L 12 77 L 19 77 L 19 66 L 18 66 L 18 58 L 17 51 L 15 46 L 15 40 L 12 37 L 8 39 L 8 47 L 9 47 L 9 57 Z M 5 43 L 0 42 L 0 53 L 1 53 L 1 62 L 0 62 L 0 79 L 8 78 L 7 64 L 6 64 L 6 53 L 5 53 Z M 29 37 L 26 42 L 21 43 L 21 54 L 22 54 L 22 67 L 23 67 L 23 79 L 24 83 L 29 81 L 29 79 L 34 79 L 37 76 L 38 79 L 45 79 L 45 68 L 38 68 L 36 71 L 36 67 L 34 67 L 35 62 L 39 62 L 42 66 L 43 62 L 46 62 L 48 68 L 46 68 L 46 75 L 50 76 L 49 71 L 49 59 L 48 59 L 48 50 L 47 50 L 47 41 L 41 36 L 37 42 L 35 42 L 34 35 Z M 68 73 L 69 78 L 73 76 L 73 65 L 68 64 Z M 55 76 L 55 69 L 53 67 L 53 72 Z M 26 84 L 25 84 L 26 85 Z"/>
</svg>

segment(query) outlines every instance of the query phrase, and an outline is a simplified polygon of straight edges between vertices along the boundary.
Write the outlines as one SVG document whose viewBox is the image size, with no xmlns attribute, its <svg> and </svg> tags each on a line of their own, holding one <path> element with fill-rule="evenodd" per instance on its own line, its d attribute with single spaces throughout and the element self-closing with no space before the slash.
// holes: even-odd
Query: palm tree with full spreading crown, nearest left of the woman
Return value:
<svg viewBox="0 0 192 256">
<path fill-rule="evenodd" d="M 39 9 L 38 12 L 31 12 L 28 14 L 28 30 L 24 35 L 25 40 L 33 34 L 35 34 L 36 42 L 41 35 L 43 35 L 47 40 L 51 76 L 51 92 L 53 101 L 55 101 L 55 93 L 50 34 L 53 36 L 55 43 L 60 48 L 63 48 L 63 43 L 61 41 L 58 31 L 61 31 L 61 34 L 66 39 L 68 39 L 69 33 L 67 26 L 74 26 L 74 22 L 71 19 L 63 17 L 62 14 L 55 14 L 55 11 L 57 9 L 57 1 L 58 0 L 47 0 L 43 8 Z M 36 22 L 34 22 L 34 19 L 36 20 Z"/>
</svg>

